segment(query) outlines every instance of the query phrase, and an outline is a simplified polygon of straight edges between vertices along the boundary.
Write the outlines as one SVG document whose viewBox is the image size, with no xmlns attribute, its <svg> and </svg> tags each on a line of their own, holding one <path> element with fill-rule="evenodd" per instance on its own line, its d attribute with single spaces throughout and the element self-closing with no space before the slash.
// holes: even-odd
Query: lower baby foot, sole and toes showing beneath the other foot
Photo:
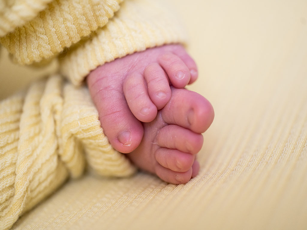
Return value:
<svg viewBox="0 0 307 230">
<path fill-rule="evenodd" d="M 128 158 L 162 180 L 184 184 L 199 171 L 195 155 L 214 118 L 212 105 L 203 96 L 172 87 L 172 96 L 150 123 L 143 123 L 141 144 Z"/>
</svg>

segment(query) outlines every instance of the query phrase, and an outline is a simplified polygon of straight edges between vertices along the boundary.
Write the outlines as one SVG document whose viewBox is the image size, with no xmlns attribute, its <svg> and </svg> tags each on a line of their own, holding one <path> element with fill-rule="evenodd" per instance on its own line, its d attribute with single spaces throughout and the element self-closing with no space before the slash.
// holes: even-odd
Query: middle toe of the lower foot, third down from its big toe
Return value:
<svg viewBox="0 0 307 230">
<path fill-rule="evenodd" d="M 165 168 L 175 172 L 186 172 L 192 167 L 195 156 L 177 149 L 158 148 L 155 158 Z"/>
</svg>

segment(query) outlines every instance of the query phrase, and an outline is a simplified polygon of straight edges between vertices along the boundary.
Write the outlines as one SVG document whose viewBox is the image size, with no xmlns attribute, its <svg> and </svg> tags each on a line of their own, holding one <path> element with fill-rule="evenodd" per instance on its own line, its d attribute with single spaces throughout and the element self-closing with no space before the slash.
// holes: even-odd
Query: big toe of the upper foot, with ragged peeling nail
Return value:
<svg viewBox="0 0 307 230">
<path fill-rule="evenodd" d="M 117 151 L 122 153 L 133 151 L 143 137 L 141 122 L 130 112 L 123 93 L 118 89 L 120 85 L 111 86 L 104 82 L 106 86 L 91 74 L 87 77 L 87 84 L 98 110 L 104 134 Z"/>
</svg>

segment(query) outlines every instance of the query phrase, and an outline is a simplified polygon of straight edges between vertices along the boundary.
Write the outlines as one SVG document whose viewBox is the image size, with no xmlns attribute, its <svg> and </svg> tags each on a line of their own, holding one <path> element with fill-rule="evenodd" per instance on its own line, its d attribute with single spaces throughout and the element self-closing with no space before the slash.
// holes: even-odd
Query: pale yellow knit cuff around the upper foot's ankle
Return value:
<svg viewBox="0 0 307 230">
<path fill-rule="evenodd" d="M 75 85 L 106 62 L 146 48 L 185 42 L 185 33 L 165 5 L 157 0 L 126 0 L 103 28 L 59 56 L 60 72 Z"/>
</svg>

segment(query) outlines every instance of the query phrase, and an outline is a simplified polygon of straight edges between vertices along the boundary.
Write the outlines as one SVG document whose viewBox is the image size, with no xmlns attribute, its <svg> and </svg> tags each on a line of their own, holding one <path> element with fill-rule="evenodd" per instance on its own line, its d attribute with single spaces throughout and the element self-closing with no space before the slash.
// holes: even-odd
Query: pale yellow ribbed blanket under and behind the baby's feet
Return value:
<svg viewBox="0 0 307 230">
<path fill-rule="evenodd" d="M 216 113 L 199 153 L 200 175 L 182 186 L 142 173 L 120 182 L 85 177 L 69 182 L 29 215 L 41 226 L 78 215 L 83 209 L 54 217 L 44 217 L 40 210 L 89 187 L 74 193 L 75 199 L 84 210 L 93 199 L 104 202 L 105 211 L 91 209 L 87 219 L 67 226 L 91 219 L 92 226 L 107 222 L 112 229 L 122 226 L 117 220 L 135 228 L 154 224 L 170 229 L 306 229 L 307 1 L 168 1 L 180 15 L 189 36 L 188 51 L 199 67 L 199 80 L 188 88 L 208 98 Z M 2 48 L 1 98 L 42 72 L 17 67 L 6 56 Z M 112 192 L 132 208 L 116 202 L 112 206 L 103 195 L 91 196 L 107 194 L 106 185 L 110 190 L 121 183 L 131 184 L 131 190 L 125 195 L 116 188 Z M 121 213 L 112 216 L 118 209 Z M 121 218 L 127 212 L 138 221 Z M 165 218 L 148 218 L 156 214 Z M 22 217 L 17 227 L 30 220 Z"/>
</svg>

